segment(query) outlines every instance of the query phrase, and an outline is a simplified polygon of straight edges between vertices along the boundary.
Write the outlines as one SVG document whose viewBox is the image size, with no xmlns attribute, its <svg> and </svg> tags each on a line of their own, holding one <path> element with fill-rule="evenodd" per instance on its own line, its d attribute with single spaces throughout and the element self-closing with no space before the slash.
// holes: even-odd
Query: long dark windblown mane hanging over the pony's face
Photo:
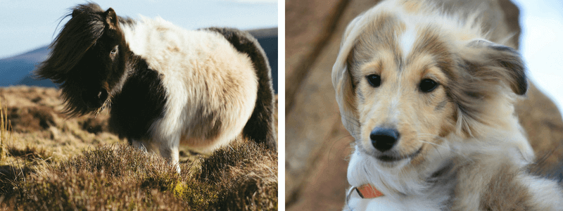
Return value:
<svg viewBox="0 0 563 211">
<path fill-rule="evenodd" d="M 80 99 L 81 72 L 71 71 L 87 51 L 96 44 L 108 30 L 106 11 L 95 3 L 79 4 L 63 15 L 61 21 L 70 17 L 49 48 L 49 58 L 40 63 L 34 74 L 40 78 L 51 79 L 63 89 L 65 108 L 63 113 L 70 117 L 92 113 L 82 105 Z M 118 17 L 120 25 L 133 25 L 131 18 Z"/>
</svg>

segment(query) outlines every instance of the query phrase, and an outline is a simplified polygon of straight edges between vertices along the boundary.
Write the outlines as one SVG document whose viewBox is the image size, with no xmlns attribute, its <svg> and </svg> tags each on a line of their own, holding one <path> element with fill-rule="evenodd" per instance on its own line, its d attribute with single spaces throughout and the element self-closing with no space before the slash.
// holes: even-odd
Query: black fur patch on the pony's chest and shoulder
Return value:
<svg viewBox="0 0 563 211">
<path fill-rule="evenodd" d="M 167 98 L 158 72 L 136 59 L 121 92 L 113 97 L 109 124 L 120 138 L 149 139 L 148 129 L 163 116 Z"/>
</svg>

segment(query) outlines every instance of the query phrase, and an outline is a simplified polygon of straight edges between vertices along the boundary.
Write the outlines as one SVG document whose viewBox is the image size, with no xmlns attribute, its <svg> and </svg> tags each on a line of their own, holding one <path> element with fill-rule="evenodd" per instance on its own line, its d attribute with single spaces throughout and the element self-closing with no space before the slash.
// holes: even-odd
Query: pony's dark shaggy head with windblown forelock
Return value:
<svg viewBox="0 0 563 211">
<path fill-rule="evenodd" d="M 99 112 L 125 73 L 129 49 L 120 20 L 113 8 L 103 11 L 93 3 L 72 8 L 68 16 L 36 74 L 60 85 L 68 115 Z"/>
</svg>

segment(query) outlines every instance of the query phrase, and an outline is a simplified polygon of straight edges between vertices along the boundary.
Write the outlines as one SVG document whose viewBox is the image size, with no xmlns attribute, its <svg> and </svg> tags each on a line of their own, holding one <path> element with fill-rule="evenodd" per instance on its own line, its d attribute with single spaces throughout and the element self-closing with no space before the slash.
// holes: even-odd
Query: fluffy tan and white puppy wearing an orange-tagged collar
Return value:
<svg viewBox="0 0 563 211">
<path fill-rule="evenodd" d="M 332 69 L 355 138 L 344 210 L 563 210 L 555 181 L 526 172 L 524 63 L 478 15 L 384 1 L 348 25 Z"/>
</svg>

